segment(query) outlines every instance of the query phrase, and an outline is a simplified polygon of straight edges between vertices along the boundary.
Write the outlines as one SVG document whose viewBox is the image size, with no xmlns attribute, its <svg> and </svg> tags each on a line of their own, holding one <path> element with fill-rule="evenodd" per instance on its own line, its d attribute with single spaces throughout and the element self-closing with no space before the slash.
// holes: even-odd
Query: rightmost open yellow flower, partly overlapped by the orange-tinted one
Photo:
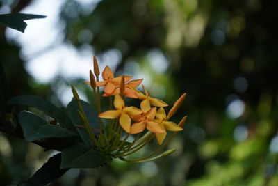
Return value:
<svg viewBox="0 0 278 186">
<path fill-rule="evenodd" d="M 156 112 L 156 123 L 159 123 L 159 125 L 161 125 L 161 127 L 164 128 L 164 130 L 169 130 L 169 131 L 181 131 L 183 130 L 183 128 L 179 127 L 179 125 L 177 125 L 176 123 L 172 122 L 172 121 L 168 121 L 168 119 L 166 118 L 166 113 L 165 110 L 163 109 L 163 107 L 161 107 L 160 109 L 158 109 L 158 111 Z M 165 133 L 156 133 L 156 140 L 158 142 L 159 145 L 161 145 L 163 143 L 163 140 L 166 137 L 166 132 Z"/>
</svg>

